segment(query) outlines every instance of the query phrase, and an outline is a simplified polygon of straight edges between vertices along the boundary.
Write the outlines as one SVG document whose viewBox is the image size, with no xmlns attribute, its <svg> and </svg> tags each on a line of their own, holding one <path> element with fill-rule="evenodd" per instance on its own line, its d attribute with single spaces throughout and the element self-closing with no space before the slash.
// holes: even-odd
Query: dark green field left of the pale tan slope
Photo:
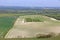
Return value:
<svg viewBox="0 0 60 40">
<path fill-rule="evenodd" d="M 0 38 L 3 38 L 9 31 L 9 29 L 12 28 L 16 18 L 16 16 L 0 17 Z"/>
</svg>

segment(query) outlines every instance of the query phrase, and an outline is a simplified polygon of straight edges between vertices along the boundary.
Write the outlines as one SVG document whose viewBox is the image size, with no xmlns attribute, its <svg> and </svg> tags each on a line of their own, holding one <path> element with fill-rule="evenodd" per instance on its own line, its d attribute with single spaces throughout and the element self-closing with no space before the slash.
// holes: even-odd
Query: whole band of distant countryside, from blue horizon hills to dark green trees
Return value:
<svg viewBox="0 0 60 40">
<path fill-rule="evenodd" d="M 60 7 L 0 6 L 0 14 L 45 15 L 60 20 Z"/>
</svg>

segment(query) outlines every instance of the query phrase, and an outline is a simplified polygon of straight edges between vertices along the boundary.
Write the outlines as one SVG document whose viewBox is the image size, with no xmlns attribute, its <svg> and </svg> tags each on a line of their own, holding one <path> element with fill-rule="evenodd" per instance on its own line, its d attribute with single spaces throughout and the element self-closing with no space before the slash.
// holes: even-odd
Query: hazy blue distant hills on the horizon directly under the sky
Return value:
<svg viewBox="0 0 60 40">
<path fill-rule="evenodd" d="M 39 9 L 60 9 L 60 7 L 20 7 L 20 6 L 0 6 L 0 10 L 39 10 Z"/>
</svg>

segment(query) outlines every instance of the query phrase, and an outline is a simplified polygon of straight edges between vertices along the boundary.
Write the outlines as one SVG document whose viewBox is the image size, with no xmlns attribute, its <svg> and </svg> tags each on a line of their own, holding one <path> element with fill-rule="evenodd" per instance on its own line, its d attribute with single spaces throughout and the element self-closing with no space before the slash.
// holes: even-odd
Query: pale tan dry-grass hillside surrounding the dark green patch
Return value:
<svg viewBox="0 0 60 40">
<path fill-rule="evenodd" d="M 25 18 L 38 18 L 41 22 L 26 22 Z M 43 20 L 43 21 L 42 21 Z M 32 38 L 36 34 L 60 33 L 60 21 L 42 15 L 20 16 L 5 38 Z"/>
</svg>

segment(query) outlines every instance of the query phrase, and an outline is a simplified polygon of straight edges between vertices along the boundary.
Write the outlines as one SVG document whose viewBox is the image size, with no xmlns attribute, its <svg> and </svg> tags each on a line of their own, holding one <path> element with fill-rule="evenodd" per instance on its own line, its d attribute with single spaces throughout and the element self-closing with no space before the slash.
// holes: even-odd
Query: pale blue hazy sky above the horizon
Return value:
<svg viewBox="0 0 60 40">
<path fill-rule="evenodd" d="M 0 6 L 60 7 L 60 0 L 0 0 Z"/>
</svg>

